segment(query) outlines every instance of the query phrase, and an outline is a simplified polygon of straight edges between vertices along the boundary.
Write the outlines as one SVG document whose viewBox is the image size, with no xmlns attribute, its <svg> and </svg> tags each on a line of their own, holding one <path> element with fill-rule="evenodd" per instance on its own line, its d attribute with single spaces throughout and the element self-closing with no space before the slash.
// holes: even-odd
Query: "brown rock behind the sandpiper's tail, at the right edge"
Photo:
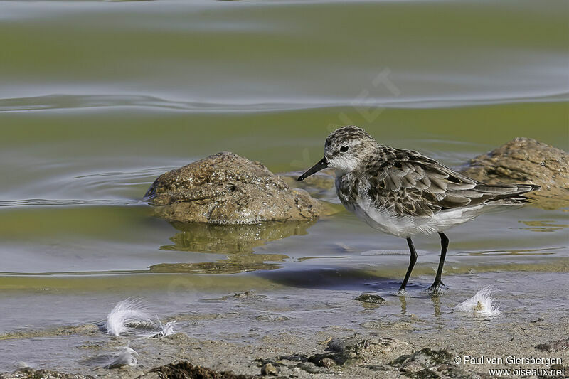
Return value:
<svg viewBox="0 0 569 379">
<path fill-rule="evenodd" d="M 543 208 L 569 203 L 569 154 L 543 142 L 517 137 L 471 159 L 462 174 L 484 183 L 533 183 L 541 190 L 528 194 Z"/>
</svg>

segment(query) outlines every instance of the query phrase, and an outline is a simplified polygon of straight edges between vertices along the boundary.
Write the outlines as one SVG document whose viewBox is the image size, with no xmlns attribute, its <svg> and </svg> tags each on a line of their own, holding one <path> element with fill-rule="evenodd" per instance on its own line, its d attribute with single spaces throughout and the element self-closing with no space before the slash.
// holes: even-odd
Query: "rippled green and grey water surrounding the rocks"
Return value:
<svg viewBox="0 0 569 379">
<path fill-rule="evenodd" d="M 302 171 L 342 124 L 451 166 L 519 136 L 567 150 L 568 11 L 566 1 L 0 1 L 0 333 L 93 322 L 125 297 L 177 314 L 179 292 L 391 291 L 405 241 L 344 210 L 226 233 L 178 230 L 140 200 L 159 174 L 217 151 Z M 528 206 L 454 228 L 445 274 L 567 272 L 567 215 Z M 438 240 L 415 243 L 412 282 L 427 286 Z"/>
</svg>

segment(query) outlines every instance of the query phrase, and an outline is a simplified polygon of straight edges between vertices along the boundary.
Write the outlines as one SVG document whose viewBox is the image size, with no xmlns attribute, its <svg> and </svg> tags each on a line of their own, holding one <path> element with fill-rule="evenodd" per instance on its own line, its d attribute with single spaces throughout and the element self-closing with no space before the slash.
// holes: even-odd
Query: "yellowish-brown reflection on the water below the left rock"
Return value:
<svg viewBox="0 0 569 379">
<path fill-rule="evenodd" d="M 255 247 L 292 235 L 305 235 L 307 228 L 314 222 L 315 220 L 256 225 L 172 223 L 180 233 L 170 238 L 174 245 L 161 246 L 161 250 L 218 253 L 225 254 L 226 257 L 216 262 L 161 263 L 149 268 L 151 272 L 191 274 L 236 274 L 277 269 L 281 265 L 275 262 L 283 262 L 289 257 L 284 254 L 256 254 L 253 252 Z"/>
</svg>

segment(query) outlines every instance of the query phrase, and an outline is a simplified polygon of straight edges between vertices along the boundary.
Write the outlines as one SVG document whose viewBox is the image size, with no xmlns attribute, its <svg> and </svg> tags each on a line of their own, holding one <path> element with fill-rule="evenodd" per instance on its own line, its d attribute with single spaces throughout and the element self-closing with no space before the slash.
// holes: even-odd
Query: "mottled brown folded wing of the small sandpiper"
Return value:
<svg viewBox="0 0 569 379">
<path fill-rule="evenodd" d="M 378 208 L 400 215 L 432 216 L 440 210 L 511 198 L 531 186 L 491 186 L 468 178 L 415 151 L 390 151 L 381 164 L 368 165 L 367 196 Z M 370 173 L 371 174 L 371 173 Z"/>
</svg>

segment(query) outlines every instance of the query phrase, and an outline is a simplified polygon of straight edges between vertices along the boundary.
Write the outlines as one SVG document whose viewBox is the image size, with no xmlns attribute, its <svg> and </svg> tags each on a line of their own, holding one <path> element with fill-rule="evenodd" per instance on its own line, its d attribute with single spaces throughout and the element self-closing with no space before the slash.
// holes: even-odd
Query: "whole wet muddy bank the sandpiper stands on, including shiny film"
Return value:
<svg viewBox="0 0 569 379">
<path fill-rule="evenodd" d="M 196 302 L 193 311 L 168 319 L 176 321 L 177 332 L 164 338 L 111 338 L 97 336 L 92 327 L 76 327 L 21 333 L 10 341 L 37 347 L 78 333 L 83 343 L 64 346 L 80 358 L 68 367 L 50 367 L 78 376 L 54 378 L 490 378 L 490 369 L 569 373 L 567 272 L 450 274 L 445 281 L 450 289 L 440 297 L 422 290 L 429 279 L 413 279 L 405 297 L 395 295 L 396 286 L 392 292 L 388 284 L 371 282 L 369 289 L 383 299 L 374 307 L 362 301 L 368 296 L 357 299 L 358 291 L 303 289 L 302 301 L 294 289 L 250 291 Z M 488 283 L 500 289 L 495 304 L 500 314 L 457 309 Z M 136 366 L 90 365 L 127 345 L 137 351 Z M 43 374 L 26 369 L 0 378 L 38 375 Z"/>
</svg>

